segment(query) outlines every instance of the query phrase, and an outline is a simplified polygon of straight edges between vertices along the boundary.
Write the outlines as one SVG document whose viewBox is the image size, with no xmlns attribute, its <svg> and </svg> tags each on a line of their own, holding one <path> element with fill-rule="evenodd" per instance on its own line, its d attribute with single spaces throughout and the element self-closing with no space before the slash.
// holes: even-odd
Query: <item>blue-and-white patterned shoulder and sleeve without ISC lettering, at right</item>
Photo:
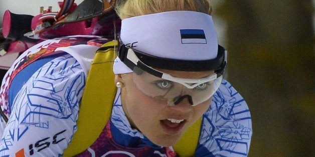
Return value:
<svg viewBox="0 0 315 157">
<path fill-rule="evenodd" d="M 223 80 L 203 115 L 199 149 L 214 155 L 246 156 L 251 135 L 251 115 L 245 100 Z"/>
</svg>

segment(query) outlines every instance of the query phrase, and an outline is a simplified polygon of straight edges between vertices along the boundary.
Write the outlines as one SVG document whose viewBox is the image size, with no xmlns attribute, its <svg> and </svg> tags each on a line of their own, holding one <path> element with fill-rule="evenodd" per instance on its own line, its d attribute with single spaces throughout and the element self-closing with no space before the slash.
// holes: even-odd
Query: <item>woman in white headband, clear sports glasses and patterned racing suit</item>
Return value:
<svg viewBox="0 0 315 157">
<path fill-rule="evenodd" d="M 222 79 L 226 53 L 208 15 L 210 3 L 126 0 L 116 9 L 122 25 L 113 65 L 117 92 L 112 113 L 99 137 L 78 156 L 175 156 L 172 145 L 200 117 L 195 156 L 246 156 L 250 113 L 240 94 Z M 80 117 L 89 70 L 82 58 L 94 55 L 97 44 L 89 43 L 95 40 L 108 41 L 66 37 L 28 50 L 45 53 L 55 48 L 16 74 L 24 79 L 15 78 L 14 85 L 2 87 L 9 90 L 8 101 L 3 97 L 2 101 L 10 117 L 1 155 L 63 154 Z M 54 42 L 61 41 L 56 48 Z M 16 85 L 19 82 L 25 84 Z"/>
</svg>

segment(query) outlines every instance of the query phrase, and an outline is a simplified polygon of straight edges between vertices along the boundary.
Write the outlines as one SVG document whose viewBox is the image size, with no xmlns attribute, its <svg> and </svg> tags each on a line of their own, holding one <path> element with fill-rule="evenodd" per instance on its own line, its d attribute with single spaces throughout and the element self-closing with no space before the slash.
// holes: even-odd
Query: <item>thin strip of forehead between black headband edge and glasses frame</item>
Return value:
<svg viewBox="0 0 315 157">
<path fill-rule="evenodd" d="M 213 74 L 214 71 L 177 71 L 177 70 L 168 70 L 162 68 L 155 68 L 161 72 L 165 72 L 171 74 L 174 77 L 179 78 L 204 78 L 208 77 L 209 75 Z"/>
</svg>

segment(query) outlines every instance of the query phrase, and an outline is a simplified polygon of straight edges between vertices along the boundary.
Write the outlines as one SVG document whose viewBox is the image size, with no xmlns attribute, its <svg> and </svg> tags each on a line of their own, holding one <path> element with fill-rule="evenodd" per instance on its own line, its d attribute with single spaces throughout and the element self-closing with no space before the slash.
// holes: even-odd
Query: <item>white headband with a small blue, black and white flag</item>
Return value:
<svg viewBox="0 0 315 157">
<path fill-rule="evenodd" d="M 217 57 L 218 38 L 212 17 L 196 11 L 167 11 L 123 19 L 123 44 L 147 54 L 182 60 Z M 132 72 L 118 58 L 114 73 Z"/>
</svg>

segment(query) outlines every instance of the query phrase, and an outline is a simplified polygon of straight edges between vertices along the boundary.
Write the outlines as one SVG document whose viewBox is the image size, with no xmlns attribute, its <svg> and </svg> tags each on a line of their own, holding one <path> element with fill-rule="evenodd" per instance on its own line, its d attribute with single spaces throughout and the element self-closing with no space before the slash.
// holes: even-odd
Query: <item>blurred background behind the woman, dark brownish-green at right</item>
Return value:
<svg viewBox="0 0 315 157">
<path fill-rule="evenodd" d="M 58 11 L 57 1 L 0 0 L 0 16 Z M 315 156 L 315 0 L 211 2 L 227 79 L 251 110 L 249 156 Z"/>
</svg>

